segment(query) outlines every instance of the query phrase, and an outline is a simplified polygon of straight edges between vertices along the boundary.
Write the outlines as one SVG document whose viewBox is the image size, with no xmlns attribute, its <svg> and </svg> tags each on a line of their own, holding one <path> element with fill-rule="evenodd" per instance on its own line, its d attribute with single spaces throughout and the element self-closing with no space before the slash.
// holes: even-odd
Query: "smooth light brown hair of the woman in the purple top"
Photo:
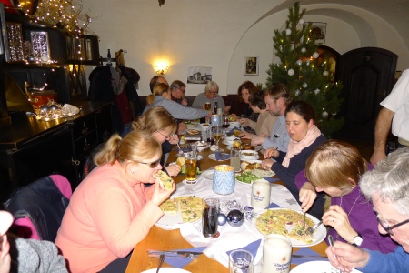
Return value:
<svg viewBox="0 0 409 273">
<path fill-rule="evenodd" d="M 340 140 L 328 140 L 308 157 L 305 177 L 314 187 L 351 187 L 368 169 L 366 160 L 352 145 Z"/>
</svg>

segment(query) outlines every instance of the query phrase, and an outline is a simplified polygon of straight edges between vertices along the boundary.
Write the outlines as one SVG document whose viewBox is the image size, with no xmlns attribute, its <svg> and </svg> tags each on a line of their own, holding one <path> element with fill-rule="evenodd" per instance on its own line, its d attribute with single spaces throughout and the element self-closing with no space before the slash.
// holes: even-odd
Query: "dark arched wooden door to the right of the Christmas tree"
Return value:
<svg viewBox="0 0 409 273">
<path fill-rule="evenodd" d="M 374 125 L 393 86 L 397 56 L 377 47 L 351 50 L 339 59 L 337 78 L 344 84 L 340 115 L 345 124 L 334 138 L 374 141 Z"/>
</svg>

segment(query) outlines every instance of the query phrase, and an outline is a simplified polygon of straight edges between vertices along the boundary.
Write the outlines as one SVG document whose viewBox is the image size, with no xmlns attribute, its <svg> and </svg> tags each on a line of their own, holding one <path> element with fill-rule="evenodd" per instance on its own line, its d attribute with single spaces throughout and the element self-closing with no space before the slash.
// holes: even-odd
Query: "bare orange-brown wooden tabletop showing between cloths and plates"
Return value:
<svg viewBox="0 0 409 273">
<path fill-rule="evenodd" d="M 224 148 L 226 152 L 228 150 L 220 141 L 219 146 Z M 225 160 L 223 162 L 217 162 L 208 158 L 208 156 L 213 153 L 210 151 L 209 148 L 205 149 L 204 151 L 200 152 L 199 155 L 203 156 L 203 159 L 200 160 L 200 167 L 201 170 L 204 171 L 210 167 L 214 167 L 219 164 L 229 164 L 229 160 Z M 175 155 L 177 152 L 172 151 L 169 155 L 168 162 L 174 162 L 176 160 Z M 260 155 L 263 158 L 262 155 Z M 181 183 L 185 175 L 179 175 L 177 177 L 173 177 L 175 183 Z M 278 184 L 284 185 L 284 183 L 278 181 Z M 128 267 L 126 268 L 126 273 L 136 273 L 136 272 L 143 272 L 147 269 L 156 268 L 158 265 L 158 258 L 148 257 L 146 253 L 146 249 L 160 249 L 160 250 L 168 250 L 168 249 L 178 249 L 178 248 L 193 248 L 193 246 L 185 240 L 180 234 L 179 229 L 175 230 L 164 230 L 160 227 L 152 227 L 149 231 L 148 235 L 138 244 L 136 244 L 134 248 L 134 252 L 132 257 L 129 261 Z M 321 242 L 318 245 L 310 247 L 317 253 L 321 255 L 325 255 L 325 249 L 327 245 L 325 242 Z M 293 252 L 298 250 L 299 248 L 293 248 Z M 166 263 L 164 263 L 163 267 L 170 267 Z M 291 268 L 295 266 L 292 265 Z M 214 260 L 213 258 L 208 258 L 203 255 L 199 255 L 194 261 L 189 263 L 184 268 L 187 271 L 195 272 L 195 273 L 202 273 L 202 272 L 228 272 L 228 268 L 225 268 L 221 263 Z"/>
</svg>

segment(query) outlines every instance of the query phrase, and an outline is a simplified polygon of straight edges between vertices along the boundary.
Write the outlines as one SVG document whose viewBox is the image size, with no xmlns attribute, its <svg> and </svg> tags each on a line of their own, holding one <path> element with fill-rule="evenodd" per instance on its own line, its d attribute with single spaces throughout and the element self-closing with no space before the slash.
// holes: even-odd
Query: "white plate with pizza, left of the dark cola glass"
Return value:
<svg viewBox="0 0 409 273">
<path fill-rule="evenodd" d="M 176 224 L 194 223 L 202 218 L 200 197 L 173 197 L 167 199 L 160 207 L 165 214 L 155 226 L 164 229 L 172 229 Z"/>
</svg>

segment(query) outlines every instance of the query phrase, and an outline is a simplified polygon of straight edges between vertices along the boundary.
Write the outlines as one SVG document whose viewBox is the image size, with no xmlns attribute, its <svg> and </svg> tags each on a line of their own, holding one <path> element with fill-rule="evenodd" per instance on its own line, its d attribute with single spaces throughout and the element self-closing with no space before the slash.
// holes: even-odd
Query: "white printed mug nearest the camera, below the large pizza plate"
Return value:
<svg viewBox="0 0 409 273">
<path fill-rule="evenodd" d="M 264 239 L 262 273 L 290 272 L 292 246 L 289 238 L 271 234 Z"/>
</svg>

